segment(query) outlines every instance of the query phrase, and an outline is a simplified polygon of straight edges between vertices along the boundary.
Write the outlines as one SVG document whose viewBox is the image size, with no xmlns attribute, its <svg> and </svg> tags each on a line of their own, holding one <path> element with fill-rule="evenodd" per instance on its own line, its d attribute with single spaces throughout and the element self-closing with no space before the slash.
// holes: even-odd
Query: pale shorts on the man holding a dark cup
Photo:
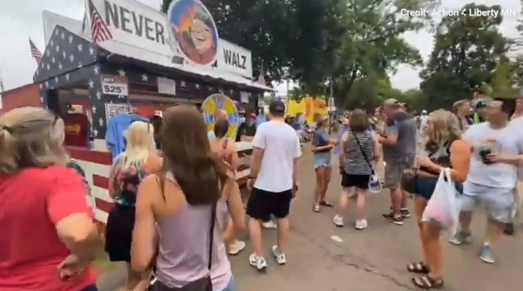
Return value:
<svg viewBox="0 0 523 291">
<path fill-rule="evenodd" d="M 490 219 L 502 223 L 512 222 L 514 188 L 494 188 L 465 183 L 464 193 L 459 198 L 462 211 L 472 211 L 476 205 L 482 204 Z"/>
</svg>

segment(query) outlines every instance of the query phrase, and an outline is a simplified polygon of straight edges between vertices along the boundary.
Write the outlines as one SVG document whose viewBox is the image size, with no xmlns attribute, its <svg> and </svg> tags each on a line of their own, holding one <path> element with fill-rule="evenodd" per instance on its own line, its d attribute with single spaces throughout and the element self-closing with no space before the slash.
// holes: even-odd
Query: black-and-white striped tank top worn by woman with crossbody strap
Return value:
<svg viewBox="0 0 523 291">
<path fill-rule="evenodd" d="M 367 158 L 372 159 L 372 132 L 354 132 L 354 135 L 358 138 L 361 145 L 361 149 L 367 155 Z M 351 175 L 370 175 L 372 169 L 370 168 L 365 157 L 358 147 L 358 142 L 354 138 L 353 132 L 348 131 L 347 141 L 344 143 L 345 147 L 345 159 L 344 159 L 344 170 L 345 173 Z"/>
</svg>

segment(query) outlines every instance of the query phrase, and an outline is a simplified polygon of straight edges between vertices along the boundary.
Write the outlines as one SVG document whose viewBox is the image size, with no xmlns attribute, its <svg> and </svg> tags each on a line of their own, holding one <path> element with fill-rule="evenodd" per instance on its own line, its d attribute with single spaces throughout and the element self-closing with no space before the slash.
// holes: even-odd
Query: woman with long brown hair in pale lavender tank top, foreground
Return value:
<svg viewBox="0 0 523 291">
<path fill-rule="evenodd" d="M 155 263 L 153 290 L 233 290 L 223 231 L 228 212 L 234 229 L 243 229 L 245 211 L 234 172 L 212 153 L 206 127 L 196 107 L 168 108 L 162 171 L 138 189 L 131 266 L 143 272 Z"/>
</svg>

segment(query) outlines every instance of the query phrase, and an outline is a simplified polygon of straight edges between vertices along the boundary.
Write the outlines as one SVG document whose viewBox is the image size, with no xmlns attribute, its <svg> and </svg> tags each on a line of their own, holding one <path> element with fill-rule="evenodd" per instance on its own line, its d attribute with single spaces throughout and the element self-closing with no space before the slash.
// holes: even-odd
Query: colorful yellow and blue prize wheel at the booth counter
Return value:
<svg viewBox="0 0 523 291">
<path fill-rule="evenodd" d="M 201 104 L 203 117 L 207 123 L 207 131 L 214 130 L 214 123 L 217 113 L 224 112 L 229 119 L 229 131 L 227 137 L 232 138 L 236 135 L 238 126 L 240 125 L 240 115 L 234 101 L 224 94 L 212 94 L 207 97 Z"/>
</svg>

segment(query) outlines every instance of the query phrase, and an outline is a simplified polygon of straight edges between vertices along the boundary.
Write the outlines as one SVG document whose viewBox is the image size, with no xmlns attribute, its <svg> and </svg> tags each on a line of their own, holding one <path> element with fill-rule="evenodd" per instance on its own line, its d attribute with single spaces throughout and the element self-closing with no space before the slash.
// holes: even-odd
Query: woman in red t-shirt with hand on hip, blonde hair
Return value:
<svg viewBox="0 0 523 291">
<path fill-rule="evenodd" d="M 44 108 L 0 117 L 0 290 L 96 290 L 98 232 L 63 140 Z"/>
</svg>

